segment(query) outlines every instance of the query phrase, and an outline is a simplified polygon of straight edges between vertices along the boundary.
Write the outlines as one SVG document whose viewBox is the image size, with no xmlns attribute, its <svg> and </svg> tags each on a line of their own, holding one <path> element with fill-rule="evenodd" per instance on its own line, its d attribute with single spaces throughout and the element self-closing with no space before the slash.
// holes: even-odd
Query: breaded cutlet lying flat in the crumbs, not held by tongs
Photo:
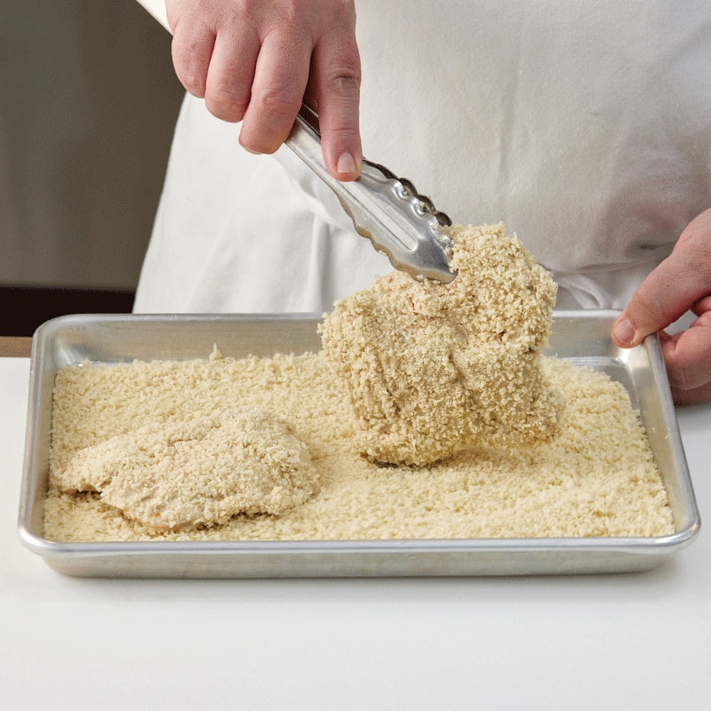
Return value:
<svg viewBox="0 0 711 711">
<path fill-rule="evenodd" d="M 318 491 L 306 445 L 263 411 L 188 416 L 109 437 L 77 451 L 55 481 L 63 491 L 98 491 L 164 531 L 283 514 Z"/>
</svg>

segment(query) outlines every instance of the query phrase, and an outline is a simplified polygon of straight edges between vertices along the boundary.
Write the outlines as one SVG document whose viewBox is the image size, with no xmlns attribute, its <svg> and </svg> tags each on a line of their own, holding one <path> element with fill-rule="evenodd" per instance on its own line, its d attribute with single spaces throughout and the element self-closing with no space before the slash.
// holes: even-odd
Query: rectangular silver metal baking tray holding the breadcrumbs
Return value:
<svg viewBox="0 0 711 711">
<path fill-rule="evenodd" d="M 225 356 L 273 356 L 320 348 L 314 314 L 260 316 L 60 316 L 33 338 L 21 487 L 22 543 L 56 571 L 124 578 L 316 578 L 479 576 L 644 571 L 687 546 L 699 511 L 659 341 L 612 344 L 617 311 L 556 312 L 549 355 L 619 380 L 643 418 L 667 487 L 675 533 L 651 538 L 58 543 L 43 537 L 55 374 L 84 359 L 191 359 L 220 344 Z"/>
</svg>

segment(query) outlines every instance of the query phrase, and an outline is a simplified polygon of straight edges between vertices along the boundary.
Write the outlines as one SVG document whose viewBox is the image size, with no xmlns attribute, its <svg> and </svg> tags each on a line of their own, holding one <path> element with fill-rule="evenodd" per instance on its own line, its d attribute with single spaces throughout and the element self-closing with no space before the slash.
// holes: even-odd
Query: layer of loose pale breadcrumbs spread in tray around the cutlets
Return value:
<svg viewBox="0 0 711 711">
<path fill-rule="evenodd" d="M 59 541 L 468 539 L 659 536 L 667 494 L 627 393 L 603 372 L 544 358 L 561 397 L 555 435 L 537 447 L 480 446 L 428 467 L 364 459 L 348 395 L 321 353 L 184 362 L 74 364 L 56 379 L 44 534 Z M 306 444 L 320 490 L 281 515 L 156 531 L 100 494 L 61 491 L 76 451 L 153 423 L 241 407 L 278 412 Z"/>
</svg>

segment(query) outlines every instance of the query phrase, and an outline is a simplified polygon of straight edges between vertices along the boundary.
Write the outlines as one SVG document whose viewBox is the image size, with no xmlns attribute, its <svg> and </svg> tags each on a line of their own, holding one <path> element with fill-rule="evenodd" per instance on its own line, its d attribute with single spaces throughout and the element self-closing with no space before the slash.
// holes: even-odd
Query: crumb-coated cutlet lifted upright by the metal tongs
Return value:
<svg viewBox="0 0 711 711">
<path fill-rule="evenodd" d="M 540 367 L 556 285 L 503 224 L 455 226 L 451 284 L 403 272 L 337 301 L 324 356 L 370 459 L 427 465 L 481 444 L 534 445 L 560 398 Z"/>
</svg>

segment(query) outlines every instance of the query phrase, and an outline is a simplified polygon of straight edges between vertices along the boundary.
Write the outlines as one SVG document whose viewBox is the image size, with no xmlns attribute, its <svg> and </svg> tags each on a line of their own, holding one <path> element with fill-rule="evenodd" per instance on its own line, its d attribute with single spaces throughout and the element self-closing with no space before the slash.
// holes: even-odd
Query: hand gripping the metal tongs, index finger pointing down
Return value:
<svg viewBox="0 0 711 711">
<path fill-rule="evenodd" d="M 361 68 L 355 0 L 166 0 L 172 60 L 186 90 L 224 121 L 242 121 L 240 144 L 274 153 L 305 95 L 319 114 L 324 163 L 355 180 Z"/>
</svg>

